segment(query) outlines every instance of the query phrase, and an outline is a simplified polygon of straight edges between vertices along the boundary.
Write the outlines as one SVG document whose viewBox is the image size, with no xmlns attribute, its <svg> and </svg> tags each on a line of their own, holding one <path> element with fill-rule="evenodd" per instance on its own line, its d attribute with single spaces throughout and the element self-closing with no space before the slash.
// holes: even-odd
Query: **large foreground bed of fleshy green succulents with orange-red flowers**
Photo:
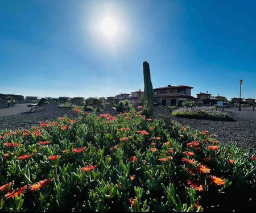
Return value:
<svg viewBox="0 0 256 213">
<path fill-rule="evenodd" d="M 0 132 L 1 211 L 253 211 L 256 156 L 140 112 Z"/>
</svg>

